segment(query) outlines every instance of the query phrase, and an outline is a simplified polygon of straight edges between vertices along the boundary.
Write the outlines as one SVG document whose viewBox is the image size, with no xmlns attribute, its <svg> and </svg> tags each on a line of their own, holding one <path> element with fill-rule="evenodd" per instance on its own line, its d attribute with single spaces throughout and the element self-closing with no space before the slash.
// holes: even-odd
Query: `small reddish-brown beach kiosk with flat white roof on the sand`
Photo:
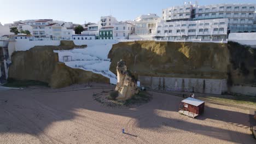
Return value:
<svg viewBox="0 0 256 144">
<path fill-rule="evenodd" d="M 179 104 L 179 113 L 189 117 L 197 117 L 205 110 L 205 101 L 187 98 L 181 101 Z"/>
</svg>

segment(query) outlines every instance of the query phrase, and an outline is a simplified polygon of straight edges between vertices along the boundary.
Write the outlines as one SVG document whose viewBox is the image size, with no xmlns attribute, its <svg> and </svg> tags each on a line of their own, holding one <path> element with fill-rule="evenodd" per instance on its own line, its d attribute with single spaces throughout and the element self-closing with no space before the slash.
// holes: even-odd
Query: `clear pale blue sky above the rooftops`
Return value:
<svg viewBox="0 0 256 144">
<path fill-rule="evenodd" d="M 190 0 L 191 1 L 191 0 Z M 191 1 L 195 2 L 195 1 Z M 255 0 L 198 0 L 200 5 L 218 3 L 256 3 Z M 134 20 L 141 14 L 156 13 L 184 1 L 176 0 L 0 0 L 0 22 L 27 19 L 54 19 L 83 24 L 112 15 L 118 21 Z"/>
</svg>

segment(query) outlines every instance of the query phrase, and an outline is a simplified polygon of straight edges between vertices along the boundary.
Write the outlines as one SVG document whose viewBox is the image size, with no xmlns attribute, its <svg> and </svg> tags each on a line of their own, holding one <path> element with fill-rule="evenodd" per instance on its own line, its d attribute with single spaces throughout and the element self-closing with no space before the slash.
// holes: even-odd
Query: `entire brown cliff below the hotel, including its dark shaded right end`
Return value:
<svg viewBox="0 0 256 144">
<path fill-rule="evenodd" d="M 116 74 L 119 59 L 133 75 L 228 79 L 229 85 L 253 85 L 256 82 L 255 49 L 237 43 L 174 43 L 135 41 L 113 45 L 108 58 Z"/>
</svg>

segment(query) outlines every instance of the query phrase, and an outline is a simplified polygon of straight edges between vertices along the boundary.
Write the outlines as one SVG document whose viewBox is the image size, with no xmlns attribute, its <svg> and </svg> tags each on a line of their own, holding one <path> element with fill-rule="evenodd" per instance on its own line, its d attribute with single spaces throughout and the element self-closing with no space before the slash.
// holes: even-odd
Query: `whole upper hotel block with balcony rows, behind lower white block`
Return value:
<svg viewBox="0 0 256 144">
<path fill-rule="evenodd" d="M 171 21 L 195 21 L 228 19 L 228 32 L 256 31 L 256 4 L 212 4 L 184 3 L 162 10 L 162 19 Z"/>
</svg>

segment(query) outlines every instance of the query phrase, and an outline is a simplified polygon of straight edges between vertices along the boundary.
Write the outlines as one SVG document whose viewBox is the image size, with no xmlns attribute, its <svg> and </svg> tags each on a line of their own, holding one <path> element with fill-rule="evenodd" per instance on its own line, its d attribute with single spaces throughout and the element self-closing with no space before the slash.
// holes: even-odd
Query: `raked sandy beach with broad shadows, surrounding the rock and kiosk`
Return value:
<svg viewBox="0 0 256 144">
<path fill-rule="evenodd" d="M 153 93 L 147 104 L 114 109 L 93 100 L 102 88 L 48 91 L 0 92 L 0 143 L 256 143 L 248 110 L 206 103 L 193 119 L 179 115 L 182 98 L 172 95 Z"/>
</svg>

